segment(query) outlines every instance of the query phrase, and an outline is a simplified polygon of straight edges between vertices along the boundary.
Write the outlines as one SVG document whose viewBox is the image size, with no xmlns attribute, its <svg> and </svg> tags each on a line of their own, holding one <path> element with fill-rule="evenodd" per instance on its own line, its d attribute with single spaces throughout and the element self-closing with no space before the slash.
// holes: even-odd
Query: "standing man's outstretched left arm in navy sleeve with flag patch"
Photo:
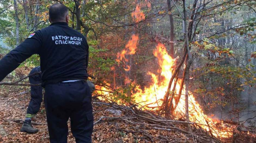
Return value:
<svg viewBox="0 0 256 143">
<path fill-rule="evenodd" d="M 23 61 L 33 54 L 39 54 L 41 39 L 40 32 L 37 31 L 35 34 L 31 34 L 24 42 L 0 60 L 0 82 Z"/>
</svg>

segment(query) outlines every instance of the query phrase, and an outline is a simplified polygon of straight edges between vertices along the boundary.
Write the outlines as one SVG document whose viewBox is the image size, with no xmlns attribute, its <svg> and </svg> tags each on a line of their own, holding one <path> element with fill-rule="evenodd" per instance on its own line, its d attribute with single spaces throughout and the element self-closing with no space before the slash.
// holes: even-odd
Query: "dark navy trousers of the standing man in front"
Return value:
<svg viewBox="0 0 256 143">
<path fill-rule="evenodd" d="M 51 143 L 67 143 L 69 117 L 76 142 L 92 142 L 92 95 L 87 82 L 49 83 L 44 100 Z"/>
</svg>

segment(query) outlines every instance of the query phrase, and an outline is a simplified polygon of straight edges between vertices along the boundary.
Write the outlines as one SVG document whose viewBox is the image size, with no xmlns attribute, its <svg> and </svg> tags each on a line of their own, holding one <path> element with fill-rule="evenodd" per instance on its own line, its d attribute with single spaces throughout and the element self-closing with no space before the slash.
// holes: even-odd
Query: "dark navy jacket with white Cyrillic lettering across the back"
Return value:
<svg viewBox="0 0 256 143">
<path fill-rule="evenodd" d="M 87 80 L 89 46 L 66 22 L 35 31 L 0 60 L 0 81 L 33 54 L 39 54 L 43 83 Z"/>
</svg>

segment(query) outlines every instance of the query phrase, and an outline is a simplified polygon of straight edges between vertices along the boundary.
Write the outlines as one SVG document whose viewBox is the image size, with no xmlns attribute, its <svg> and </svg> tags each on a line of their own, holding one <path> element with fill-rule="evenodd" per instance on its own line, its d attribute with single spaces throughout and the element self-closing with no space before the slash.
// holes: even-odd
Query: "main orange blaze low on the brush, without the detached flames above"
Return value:
<svg viewBox="0 0 256 143">
<path fill-rule="evenodd" d="M 175 59 L 169 56 L 166 51 L 166 48 L 163 44 L 159 43 L 156 46 L 156 49 L 153 51 L 153 54 L 158 59 L 158 63 L 161 70 L 158 70 L 160 73 L 158 75 L 148 72 L 151 76 L 152 84 L 144 87 L 143 89 L 138 85 L 135 88 L 135 93 L 132 94 L 136 103 L 140 103 L 140 106 L 144 109 L 150 109 L 150 107 L 155 107 L 153 110 L 158 110 L 162 105 L 162 99 L 167 90 L 169 79 L 171 78 L 172 66 Z M 162 80 L 160 80 L 160 77 Z M 179 91 L 179 82 L 176 86 L 176 91 Z M 97 93 L 107 96 L 111 94 L 111 91 L 108 88 L 97 86 L 96 89 L 100 89 Z M 184 87 L 182 89 L 182 95 L 184 95 Z M 178 94 L 178 93 L 176 93 Z M 150 105 L 150 106 L 146 106 Z M 173 102 L 175 105 L 175 102 Z M 185 113 L 185 97 L 181 96 L 177 108 L 175 110 L 175 115 L 180 116 Z M 216 119 L 209 118 L 203 113 L 200 105 L 195 100 L 194 96 L 191 94 L 189 96 L 189 115 L 190 121 L 195 122 L 200 125 L 201 128 L 205 129 L 208 132 L 211 132 L 215 137 L 227 138 L 232 135 L 232 127 L 226 127 L 224 124 Z M 224 131 L 225 129 L 225 131 Z"/>
</svg>

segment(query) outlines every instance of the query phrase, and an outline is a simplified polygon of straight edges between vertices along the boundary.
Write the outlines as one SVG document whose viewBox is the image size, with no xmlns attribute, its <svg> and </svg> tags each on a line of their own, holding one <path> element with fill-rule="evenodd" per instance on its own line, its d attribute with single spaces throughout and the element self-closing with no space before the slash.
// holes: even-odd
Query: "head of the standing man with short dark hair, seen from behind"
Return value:
<svg viewBox="0 0 256 143">
<path fill-rule="evenodd" d="M 53 4 L 49 8 L 49 20 L 54 22 L 68 22 L 68 8 L 63 4 Z"/>
</svg>

